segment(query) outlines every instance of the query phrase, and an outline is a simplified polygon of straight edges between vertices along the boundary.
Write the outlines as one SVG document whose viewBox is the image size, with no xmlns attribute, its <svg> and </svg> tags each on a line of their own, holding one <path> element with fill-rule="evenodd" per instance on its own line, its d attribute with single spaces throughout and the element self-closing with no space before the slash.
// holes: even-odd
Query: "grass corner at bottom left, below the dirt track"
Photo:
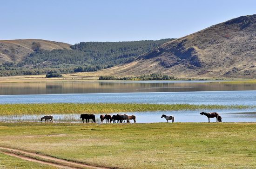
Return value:
<svg viewBox="0 0 256 169">
<path fill-rule="evenodd" d="M 57 167 L 28 162 L 0 152 L 0 169 L 58 169 Z"/>
</svg>

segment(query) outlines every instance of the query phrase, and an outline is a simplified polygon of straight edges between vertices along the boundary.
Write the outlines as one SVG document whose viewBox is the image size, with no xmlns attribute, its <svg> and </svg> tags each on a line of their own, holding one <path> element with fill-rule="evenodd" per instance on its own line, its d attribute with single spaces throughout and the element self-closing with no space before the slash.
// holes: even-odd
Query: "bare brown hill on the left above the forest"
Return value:
<svg viewBox="0 0 256 169">
<path fill-rule="evenodd" d="M 40 43 L 44 50 L 70 49 L 70 44 L 41 39 L 0 40 L 0 63 L 20 62 L 34 52 L 33 43 Z"/>
</svg>

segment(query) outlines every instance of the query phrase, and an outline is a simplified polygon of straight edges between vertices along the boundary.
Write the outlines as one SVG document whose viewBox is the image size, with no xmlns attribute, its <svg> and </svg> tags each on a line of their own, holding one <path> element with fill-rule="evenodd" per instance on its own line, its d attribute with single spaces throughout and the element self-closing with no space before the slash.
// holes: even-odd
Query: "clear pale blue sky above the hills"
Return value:
<svg viewBox="0 0 256 169">
<path fill-rule="evenodd" d="M 0 4 L 0 39 L 69 44 L 180 38 L 256 14 L 256 0 L 0 0 Z"/>
</svg>

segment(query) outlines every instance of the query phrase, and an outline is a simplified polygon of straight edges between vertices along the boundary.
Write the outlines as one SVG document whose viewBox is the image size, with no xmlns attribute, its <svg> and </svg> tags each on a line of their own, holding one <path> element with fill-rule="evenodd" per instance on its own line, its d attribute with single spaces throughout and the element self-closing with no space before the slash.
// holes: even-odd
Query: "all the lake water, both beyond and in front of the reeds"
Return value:
<svg viewBox="0 0 256 169">
<path fill-rule="evenodd" d="M 14 103 L 155 103 L 256 105 L 256 83 L 222 81 L 94 81 L 0 83 L 0 104 Z M 211 111 L 213 110 L 204 110 Z M 255 122 L 256 109 L 216 110 L 223 122 Z M 138 123 L 207 122 L 200 111 L 134 112 Z M 46 112 L 47 114 L 47 112 Z M 41 115 L 0 116 L 0 121 L 38 121 Z M 79 122 L 79 114 L 55 114 L 54 121 Z M 98 118 L 99 119 L 99 118 Z M 215 121 L 216 119 L 211 119 Z"/>
</svg>

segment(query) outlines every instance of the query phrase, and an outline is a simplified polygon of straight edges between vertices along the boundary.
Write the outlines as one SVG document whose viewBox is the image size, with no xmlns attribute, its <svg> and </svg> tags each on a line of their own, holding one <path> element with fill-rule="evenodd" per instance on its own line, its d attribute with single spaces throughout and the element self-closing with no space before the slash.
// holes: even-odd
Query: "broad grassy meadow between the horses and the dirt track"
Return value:
<svg viewBox="0 0 256 169">
<path fill-rule="evenodd" d="M 121 169 L 256 168 L 256 123 L 0 123 L 0 145 Z"/>
</svg>

